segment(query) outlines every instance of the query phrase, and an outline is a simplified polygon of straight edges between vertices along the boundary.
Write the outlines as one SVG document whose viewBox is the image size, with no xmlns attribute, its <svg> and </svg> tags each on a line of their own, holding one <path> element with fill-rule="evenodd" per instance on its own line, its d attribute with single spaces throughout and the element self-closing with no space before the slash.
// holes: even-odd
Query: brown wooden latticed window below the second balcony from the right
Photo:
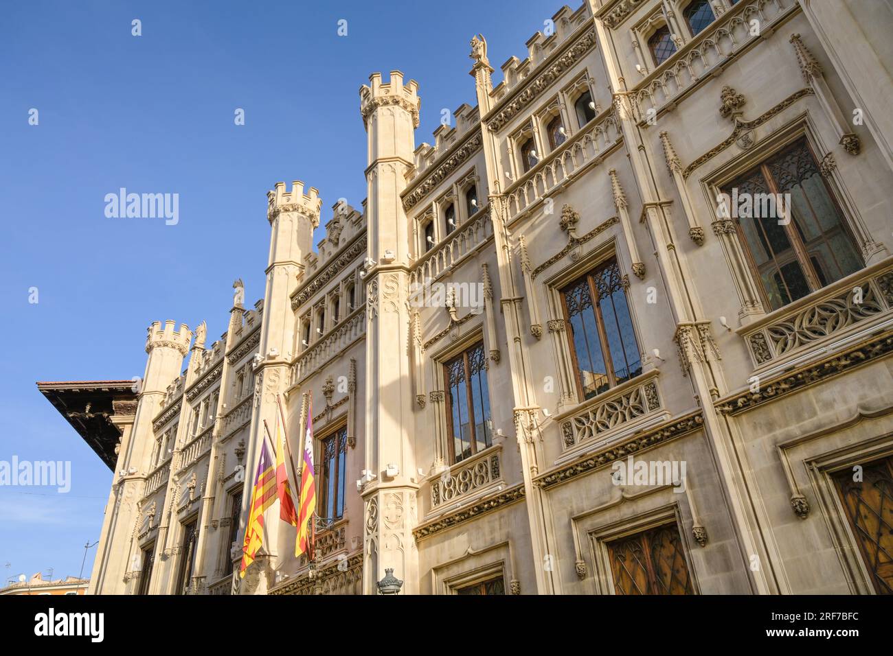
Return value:
<svg viewBox="0 0 893 656">
<path fill-rule="evenodd" d="M 607 547 L 615 594 L 695 594 L 675 522 Z"/>
</svg>

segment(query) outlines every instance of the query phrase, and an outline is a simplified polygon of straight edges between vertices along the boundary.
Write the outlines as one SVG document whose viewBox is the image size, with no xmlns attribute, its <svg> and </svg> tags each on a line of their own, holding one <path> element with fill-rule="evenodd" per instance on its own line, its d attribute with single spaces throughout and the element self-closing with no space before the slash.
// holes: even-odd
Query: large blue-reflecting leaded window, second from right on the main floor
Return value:
<svg viewBox="0 0 893 656">
<path fill-rule="evenodd" d="M 561 290 L 577 384 L 584 399 L 642 372 L 630 307 L 617 260 Z"/>
</svg>

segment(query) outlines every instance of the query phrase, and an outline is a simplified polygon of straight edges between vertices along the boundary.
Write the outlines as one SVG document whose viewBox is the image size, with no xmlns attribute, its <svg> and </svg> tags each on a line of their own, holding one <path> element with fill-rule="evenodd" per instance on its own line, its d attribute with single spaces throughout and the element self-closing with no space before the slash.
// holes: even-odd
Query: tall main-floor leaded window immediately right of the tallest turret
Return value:
<svg viewBox="0 0 893 656">
<path fill-rule="evenodd" d="M 458 462 L 493 444 L 483 343 L 444 363 L 444 381 L 450 461 Z"/>
</svg>

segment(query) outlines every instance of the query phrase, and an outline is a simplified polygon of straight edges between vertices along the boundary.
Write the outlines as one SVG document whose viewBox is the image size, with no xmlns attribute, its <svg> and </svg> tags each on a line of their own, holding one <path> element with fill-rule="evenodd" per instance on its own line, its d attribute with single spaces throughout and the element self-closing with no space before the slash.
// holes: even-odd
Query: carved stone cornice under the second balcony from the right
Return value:
<svg viewBox="0 0 893 656">
<path fill-rule="evenodd" d="M 589 453 L 568 464 L 551 469 L 533 482 L 544 490 L 548 489 L 610 465 L 614 461 L 622 460 L 631 453 L 639 453 L 659 444 L 665 444 L 677 437 L 688 435 L 703 425 L 704 417 L 700 411 L 670 419 L 654 428 L 647 428 L 641 433 L 635 433 L 620 443 L 611 444 L 601 451 Z"/>
</svg>

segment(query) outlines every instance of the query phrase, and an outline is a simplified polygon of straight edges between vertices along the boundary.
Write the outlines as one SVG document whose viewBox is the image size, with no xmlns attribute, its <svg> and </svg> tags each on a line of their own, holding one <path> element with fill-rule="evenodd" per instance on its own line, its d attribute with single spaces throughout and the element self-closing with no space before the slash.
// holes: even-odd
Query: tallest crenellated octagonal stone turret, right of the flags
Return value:
<svg viewBox="0 0 893 656">
<path fill-rule="evenodd" d="M 407 298 L 411 254 L 409 220 L 400 192 L 413 167 L 413 130 L 419 125 L 418 85 L 403 73 L 370 76 L 360 89 L 360 111 L 369 143 L 369 254 L 366 271 L 366 449 L 363 478 L 365 545 L 363 593 L 376 594 L 385 569 L 418 592 L 418 553 L 413 538 L 416 468 L 413 449 L 412 345 Z"/>
</svg>

